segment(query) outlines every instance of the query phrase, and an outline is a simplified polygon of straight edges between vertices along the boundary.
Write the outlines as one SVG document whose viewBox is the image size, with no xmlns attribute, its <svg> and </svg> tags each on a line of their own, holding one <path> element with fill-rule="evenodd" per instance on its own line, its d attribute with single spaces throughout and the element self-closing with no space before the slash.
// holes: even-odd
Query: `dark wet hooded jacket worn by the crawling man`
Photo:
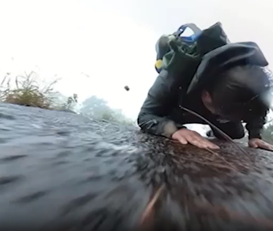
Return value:
<svg viewBox="0 0 273 231">
<path fill-rule="evenodd" d="M 148 91 L 148 96 L 141 107 L 137 120 L 138 125 L 142 130 L 151 134 L 171 137 L 179 128 L 185 128 L 185 124 L 206 124 L 197 116 L 179 108 L 181 105 L 202 115 L 231 138 L 242 138 L 244 136 L 242 122 L 223 120 L 208 111 L 201 100 L 201 89 L 202 81 L 209 81 L 203 76 L 216 76 L 217 71 L 215 70 L 221 71 L 246 63 L 259 66 L 268 65 L 258 46 L 250 42 L 227 44 L 206 54 L 190 85 L 183 85 L 181 81 L 177 81 L 182 76 L 175 76 L 162 70 Z M 188 91 L 189 86 L 190 88 L 194 86 L 195 90 Z M 267 111 L 264 111 L 264 114 L 255 120 L 244 121 L 247 122 L 246 129 L 249 132 L 249 139 L 261 138 L 266 114 Z M 217 130 L 211 128 L 217 138 L 223 138 Z"/>
</svg>

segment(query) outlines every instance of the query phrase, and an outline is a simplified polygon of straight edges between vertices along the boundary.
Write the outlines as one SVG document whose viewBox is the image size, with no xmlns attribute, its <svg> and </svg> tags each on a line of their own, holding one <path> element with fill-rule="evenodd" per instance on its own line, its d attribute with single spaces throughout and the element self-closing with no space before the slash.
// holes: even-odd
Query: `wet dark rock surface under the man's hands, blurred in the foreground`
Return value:
<svg viewBox="0 0 273 231">
<path fill-rule="evenodd" d="M 273 230 L 273 153 L 214 142 L 0 104 L 0 230 Z"/>
</svg>

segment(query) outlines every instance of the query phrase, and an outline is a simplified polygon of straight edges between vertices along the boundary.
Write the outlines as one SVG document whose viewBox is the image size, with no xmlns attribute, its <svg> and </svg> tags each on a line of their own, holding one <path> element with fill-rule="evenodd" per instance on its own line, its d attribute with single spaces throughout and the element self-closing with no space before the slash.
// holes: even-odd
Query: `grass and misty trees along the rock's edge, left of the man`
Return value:
<svg viewBox="0 0 273 231">
<path fill-rule="evenodd" d="M 75 110 L 75 107 L 78 106 L 78 94 L 74 93 L 65 97 L 54 89 L 54 85 L 61 78 L 56 78 L 49 84 L 43 84 L 43 87 L 40 86 L 41 80 L 39 80 L 35 71 L 25 72 L 24 75 L 16 77 L 11 77 L 11 73 L 6 73 L 0 82 L 0 102 L 78 113 L 111 122 L 136 125 L 135 121 L 124 116 L 121 110 L 110 108 L 107 101 L 94 95 L 86 99 L 79 110 Z"/>
</svg>

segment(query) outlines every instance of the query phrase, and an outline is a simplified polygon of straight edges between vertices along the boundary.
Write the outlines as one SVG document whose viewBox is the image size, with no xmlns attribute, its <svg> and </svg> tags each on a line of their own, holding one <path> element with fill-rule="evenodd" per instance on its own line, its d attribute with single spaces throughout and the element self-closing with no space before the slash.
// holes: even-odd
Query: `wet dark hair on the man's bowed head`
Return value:
<svg viewBox="0 0 273 231">
<path fill-rule="evenodd" d="M 272 74 L 260 66 L 236 66 L 216 76 L 207 88 L 222 116 L 240 120 L 265 116 L 272 99 Z"/>
</svg>

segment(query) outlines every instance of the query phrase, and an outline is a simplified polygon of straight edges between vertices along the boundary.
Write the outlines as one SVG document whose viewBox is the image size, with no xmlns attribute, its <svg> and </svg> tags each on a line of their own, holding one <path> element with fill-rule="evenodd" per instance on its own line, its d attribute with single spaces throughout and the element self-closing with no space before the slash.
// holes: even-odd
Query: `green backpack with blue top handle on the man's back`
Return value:
<svg viewBox="0 0 273 231">
<path fill-rule="evenodd" d="M 191 36 L 181 36 L 186 28 Z M 203 56 L 229 43 L 220 22 L 201 30 L 193 23 L 180 26 L 176 32 L 161 36 L 156 42 L 156 64 L 158 73 L 163 69 L 169 74 L 183 76 L 183 84 L 189 85 Z"/>
</svg>

